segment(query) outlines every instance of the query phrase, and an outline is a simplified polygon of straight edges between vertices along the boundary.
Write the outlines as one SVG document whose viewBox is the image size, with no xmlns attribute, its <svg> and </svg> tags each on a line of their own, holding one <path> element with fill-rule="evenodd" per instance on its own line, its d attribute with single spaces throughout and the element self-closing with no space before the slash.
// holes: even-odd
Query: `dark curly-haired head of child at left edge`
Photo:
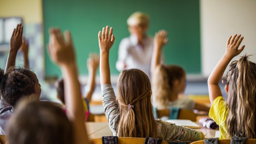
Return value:
<svg viewBox="0 0 256 144">
<path fill-rule="evenodd" d="M 28 69 L 11 68 L 4 74 L 0 70 L 0 92 L 6 103 L 15 105 L 22 97 L 39 100 L 41 86 L 37 76 Z"/>
</svg>

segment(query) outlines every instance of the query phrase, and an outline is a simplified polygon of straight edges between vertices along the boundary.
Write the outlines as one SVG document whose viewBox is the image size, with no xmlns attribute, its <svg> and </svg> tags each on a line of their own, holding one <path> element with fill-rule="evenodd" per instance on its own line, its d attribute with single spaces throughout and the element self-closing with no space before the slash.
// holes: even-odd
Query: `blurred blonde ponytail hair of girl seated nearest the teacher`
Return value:
<svg viewBox="0 0 256 144">
<path fill-rule="evenodd" d="M 185 74 L 185 70 L 176 65 L 159 65 L 155 68 L 152 76 L 152 91 L 157 109 L 166 108 L 174 88 L 174 80 L 181 80 Z"/>
</svg>

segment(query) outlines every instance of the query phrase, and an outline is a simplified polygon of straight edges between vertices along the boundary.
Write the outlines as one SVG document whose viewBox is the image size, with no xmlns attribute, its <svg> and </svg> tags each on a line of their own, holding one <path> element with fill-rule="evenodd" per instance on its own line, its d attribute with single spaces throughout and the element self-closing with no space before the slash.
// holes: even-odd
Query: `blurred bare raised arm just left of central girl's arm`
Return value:
<svg viewBox="0 0 256 144">
<path fill-rule="evenodd" d="M 99 67 L 100 63 L 100 56 L 97 53 L 90 53 L 89 58 L 87 59 L 87 68 L 88 68 L 88 81 L 87 81 L 87 87 L 88 92 L 85 95 L 85 98 L 88 102 L 91 101 L 91 96 L 93 94 L 93 91 L 95 89 L 95 78 L 96 78 L 96 72 Z"/>
</svg>

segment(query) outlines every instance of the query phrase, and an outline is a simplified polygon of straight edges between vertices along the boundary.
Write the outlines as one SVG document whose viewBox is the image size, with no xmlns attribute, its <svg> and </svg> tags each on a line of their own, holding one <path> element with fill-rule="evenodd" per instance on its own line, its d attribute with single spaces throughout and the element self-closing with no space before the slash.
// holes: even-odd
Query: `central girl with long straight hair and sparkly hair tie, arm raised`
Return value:
<svg viewBox="0 0 256 144">
<path fill-rule="evenodd" d="M 100 79 L 104 112 L 113 134 L 119 137 L 157 137 L 165 141 L 191 142 L 204 138 L 203 133 L 154 120 L 151 85 L 139 69 L 120 73 L 117 97 L 110 81 L 109 50 L 114 43 L 113 28 L 104 27 L 98 34 L 100 47 Z"/>
</svg>

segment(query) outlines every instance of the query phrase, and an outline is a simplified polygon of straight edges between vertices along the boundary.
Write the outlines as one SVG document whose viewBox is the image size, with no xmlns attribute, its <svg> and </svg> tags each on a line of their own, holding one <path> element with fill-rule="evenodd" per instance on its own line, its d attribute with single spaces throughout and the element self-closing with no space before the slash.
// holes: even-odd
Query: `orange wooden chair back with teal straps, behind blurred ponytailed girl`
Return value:
<svg viewBox="0 0 256 144">
<path fill-rule="evenodd" d="M 167 116 L 169 117 L 170 109 L 157 110 L 158 118 Z M 192 110 L 180 109 L 178 119 L 196 121 L 196 114 Z"/>
</svg>

